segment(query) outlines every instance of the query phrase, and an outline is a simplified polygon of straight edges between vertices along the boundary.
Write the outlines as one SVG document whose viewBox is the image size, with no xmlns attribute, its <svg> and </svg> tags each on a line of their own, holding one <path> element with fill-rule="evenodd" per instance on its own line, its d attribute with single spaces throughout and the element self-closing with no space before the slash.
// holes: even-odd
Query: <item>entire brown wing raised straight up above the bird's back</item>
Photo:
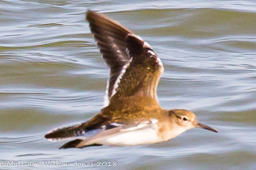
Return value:
<svg viewBox="0 0 256 170">
<path fill-rule="evenodd" d="M 157 100 L 163 64 L 150 45 L 102 14 L 89 10 L 86 20 L 111 70 L 107 99 L 142 95 Z"/>
</svg>

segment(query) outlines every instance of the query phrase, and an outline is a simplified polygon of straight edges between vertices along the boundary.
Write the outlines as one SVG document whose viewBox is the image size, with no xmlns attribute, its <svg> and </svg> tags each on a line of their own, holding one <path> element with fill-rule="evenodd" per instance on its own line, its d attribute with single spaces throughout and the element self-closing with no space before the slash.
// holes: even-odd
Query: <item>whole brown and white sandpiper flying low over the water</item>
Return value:
<svg viewBox="0 0 256 170">
<path fill-rule="evenodd" d="M 110 68 L 104 108 L 92 119 L 53 130 L 46 139 L 76 137 L 61 148 L 139 145 L 168 141 L 191 128 L 217 130 L 199 123 L 188 110 L 159 106 L 157 86 L 163 64 L 151 46 L 110 18 L 86 13 L 97 46 Z M 87 132 L 96 135 L 85 137 Z"/>
</svg>

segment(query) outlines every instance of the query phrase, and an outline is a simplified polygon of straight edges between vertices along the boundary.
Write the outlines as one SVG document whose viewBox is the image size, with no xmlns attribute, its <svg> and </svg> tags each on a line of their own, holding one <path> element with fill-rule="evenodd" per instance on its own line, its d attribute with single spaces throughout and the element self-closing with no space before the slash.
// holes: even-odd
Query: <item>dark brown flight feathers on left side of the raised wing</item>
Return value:
<svg viewBox="0 0 256 170">
<path fill-rule="evenodd" d="M 131 31 L 121 26 L 118 22 L 90 10 L 86 13 L 86 20 L 89 22 L 91 32 L 106 64 L 111 69 L 109 89 L 107 89 L 108 97 L 110 98 L 122 67 L 130 60 L 125 39 Z"/>
</svg>

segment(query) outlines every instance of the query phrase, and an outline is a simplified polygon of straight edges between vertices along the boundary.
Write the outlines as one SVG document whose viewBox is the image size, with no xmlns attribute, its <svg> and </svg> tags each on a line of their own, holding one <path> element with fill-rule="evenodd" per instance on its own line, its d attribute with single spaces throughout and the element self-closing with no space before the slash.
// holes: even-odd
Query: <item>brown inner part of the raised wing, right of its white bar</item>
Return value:
<svg viewBox="0 0 256 170">
<path fill-rule="evenodd" d="M 163 73 L 163 64 L 147 42 L 129 34 L 126 38 L 131 62 L 123 71 L 114 88 L 114 98 L 133 95 L 152 97 L 157 101 L 157 86 Z"/>
</svg>

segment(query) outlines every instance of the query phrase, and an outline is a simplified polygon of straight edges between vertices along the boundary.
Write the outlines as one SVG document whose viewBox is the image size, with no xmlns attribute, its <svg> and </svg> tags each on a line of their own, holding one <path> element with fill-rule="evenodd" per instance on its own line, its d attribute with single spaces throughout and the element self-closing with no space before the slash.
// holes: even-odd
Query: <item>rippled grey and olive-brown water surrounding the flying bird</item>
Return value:
<svg viewBox="0 0 256 170">
<path fill-rule="evenodd" d="M 103 106 L 109 71 L 84 20 L 88 9 L 118 20 L 161 57 L 163 108 L 192 110 L 219 133 L 70 150 L 45 140 Z M 256 2 L 0 0 L 0 153 L 0 169 L 256 169 Z M 75 166 L 89 162 L 96 164 Z"/>
</svg>

